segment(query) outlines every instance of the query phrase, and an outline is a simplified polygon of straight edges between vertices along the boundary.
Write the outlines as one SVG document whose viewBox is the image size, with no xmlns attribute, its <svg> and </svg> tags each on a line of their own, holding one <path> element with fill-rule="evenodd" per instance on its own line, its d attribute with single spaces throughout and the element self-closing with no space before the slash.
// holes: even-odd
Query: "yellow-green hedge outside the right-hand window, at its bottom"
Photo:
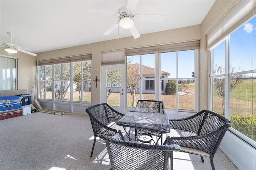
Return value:
<svg viewBox="0 0 256 170">
<path fill-rule="evenodd" d="M 252 115 L 231 115 L 230 122 L 232 123 L 232 128 L 256 141 L 256 117 Z"/>
</svg>

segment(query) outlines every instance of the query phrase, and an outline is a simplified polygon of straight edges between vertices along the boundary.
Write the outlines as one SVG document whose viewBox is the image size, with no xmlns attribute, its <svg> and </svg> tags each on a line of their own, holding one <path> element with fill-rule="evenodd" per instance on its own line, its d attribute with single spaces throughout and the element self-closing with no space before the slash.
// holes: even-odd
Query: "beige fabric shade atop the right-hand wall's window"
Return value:
<svg viewBox="0 0 256 170">
<path fill-rule="evenodd" d="M 206 34 L 207 50 L 222 41 L 236 28 L 252 18 L 256 12 L 254 0 L 238 0 Z"/>
</svg>

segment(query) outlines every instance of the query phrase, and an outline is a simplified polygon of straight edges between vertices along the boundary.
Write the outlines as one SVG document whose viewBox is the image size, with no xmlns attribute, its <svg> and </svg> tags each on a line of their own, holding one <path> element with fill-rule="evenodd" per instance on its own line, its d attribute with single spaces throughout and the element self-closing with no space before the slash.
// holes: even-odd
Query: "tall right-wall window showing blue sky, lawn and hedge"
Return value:
<svg viewBox="0 0 256 170">
<path fill-rule="evenodd" d="M 210 108 L 246 141 L 256 141 L 255 26 L 253 18 L 210 49 Z"/>
</svg>

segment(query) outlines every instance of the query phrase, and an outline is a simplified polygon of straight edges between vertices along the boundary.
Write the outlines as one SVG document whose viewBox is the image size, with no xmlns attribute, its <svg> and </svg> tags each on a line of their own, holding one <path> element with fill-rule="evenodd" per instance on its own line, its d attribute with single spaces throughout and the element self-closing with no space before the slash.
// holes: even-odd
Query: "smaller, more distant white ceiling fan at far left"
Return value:
<svg viewBox="0 0 256 170">
<path fill-rule="evenodd" d="M 13 44 L 12 36 L 14 36 L 15 34 L 10 33 L 10 32 L 8 32 L 7 34 L 11 37 L 11 43 L 3 43 L 3 45 L 2 44 L 0 44 L 0 45 L 3 47 L 6 47 L 6 49 L 4 49 L 4 50 L 7 51 L 9 54 L 14 54 L 14 53 L 17 53 L 18 51 L 20 51 L 20 52 L 27 53 L 27 54 L 33 55 L 33 56 L 37 55 L 35 53 L 29 52 L 29 51 L 31 51 L 30 49 L 29 49 L 29 51 L 26 51 L 26 50 L 22 49 L 21 47 L 19 47 L 18 45 Z"/>
</svg>

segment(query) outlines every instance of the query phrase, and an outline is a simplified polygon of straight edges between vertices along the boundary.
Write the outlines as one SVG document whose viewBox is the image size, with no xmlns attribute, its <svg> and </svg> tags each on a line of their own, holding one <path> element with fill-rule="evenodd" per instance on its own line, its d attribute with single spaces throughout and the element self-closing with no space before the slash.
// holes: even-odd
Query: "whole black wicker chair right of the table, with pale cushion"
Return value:
<svg viewBox="0 0 256 170">
<path fill-rule="evenodd" d="M 212 111 L 202 110 L 191 117 L 170 119 L 169 122 L 171 144 L 180 145 L 181 152 L 200 155 L 202 162 L 203 156 L 209 157 L 215 170 L 213 158 L 226 131 L 231 127 L 230 121 Z"/>
</svg>

